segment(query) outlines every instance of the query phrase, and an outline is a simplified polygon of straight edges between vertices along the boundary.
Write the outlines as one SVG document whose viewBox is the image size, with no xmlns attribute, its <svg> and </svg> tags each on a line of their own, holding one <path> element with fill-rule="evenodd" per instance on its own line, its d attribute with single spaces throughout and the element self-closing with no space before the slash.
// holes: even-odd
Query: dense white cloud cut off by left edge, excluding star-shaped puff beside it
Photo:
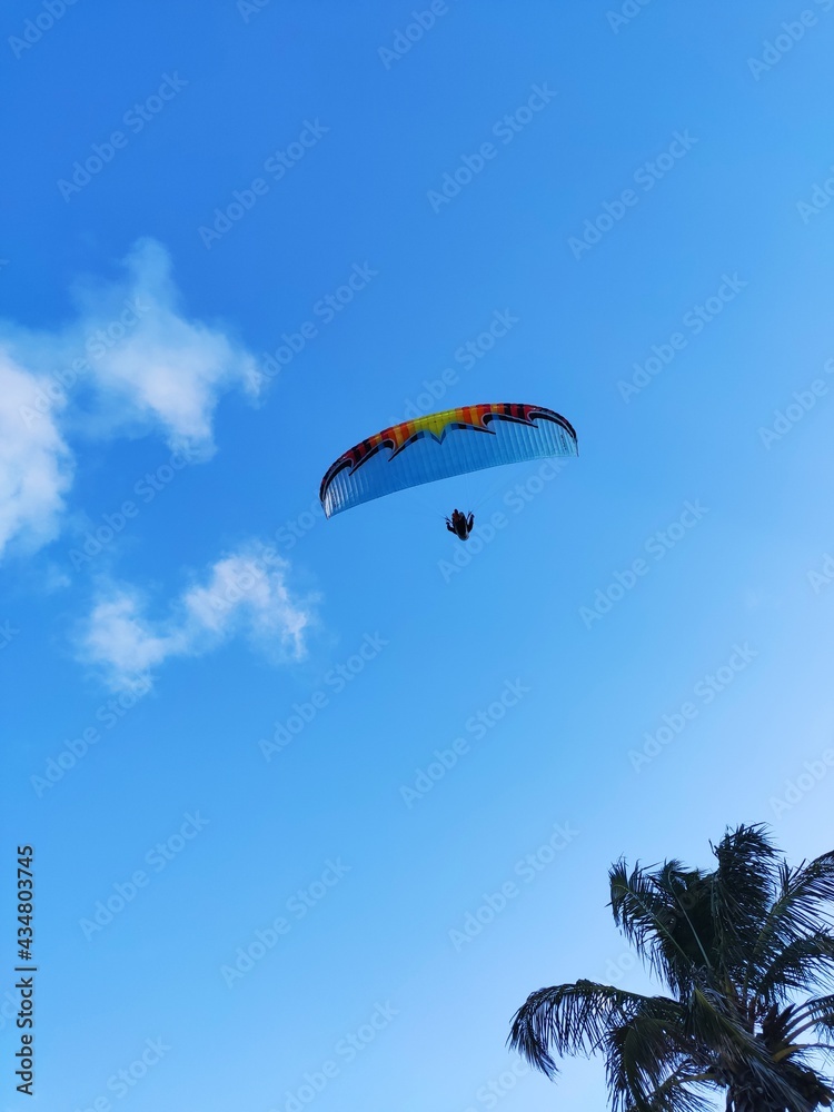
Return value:
<svg viewBox="0 0 834 1112">
<path fill-rule="evenodd" d="M 56 536 L 72 478 L 52 416 L 32 427 L 21 419 L 37 388 L 37 378 L 0 347 L 0 553 L 13 537 L 37 548 Z"/>
</svg>

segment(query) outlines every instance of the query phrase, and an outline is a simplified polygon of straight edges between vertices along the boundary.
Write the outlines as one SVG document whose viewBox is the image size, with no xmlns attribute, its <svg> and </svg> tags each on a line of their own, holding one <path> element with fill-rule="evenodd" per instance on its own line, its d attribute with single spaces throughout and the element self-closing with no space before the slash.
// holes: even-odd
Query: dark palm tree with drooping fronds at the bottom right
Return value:
<svg viewBox="0 0 834 1112">
<path fill-rule="evenodd" d="M 712 872 L 609 872 L 614 922 L 668 995 L 593 981 L 534 992 L 509 1043 L 603 1052 L 615 1112 L 813 1112 L 834 1103 L 834 851 L 790 868 L 763 826 L 727 831 Z"/>
</svg>

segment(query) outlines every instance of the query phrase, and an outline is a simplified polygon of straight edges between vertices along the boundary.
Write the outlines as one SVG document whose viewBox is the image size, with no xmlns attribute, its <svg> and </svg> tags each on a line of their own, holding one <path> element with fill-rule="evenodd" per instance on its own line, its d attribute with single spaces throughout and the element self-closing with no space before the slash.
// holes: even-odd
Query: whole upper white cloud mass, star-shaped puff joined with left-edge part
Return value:
<svg viewBox="0 0 834 1112">
<path fill-rule="evenodd" d="M 221 394 L 254 390 L 252 356 L 183 315 L 159 244 L 140 241 L 125 266 L 125 279 L 79 285 L 76 319 L 54 331 L 0 321 L 0 555 L 17 535 L 56 536 L 69 436 L 156 431 L 208 458 Z"/>
</svg>

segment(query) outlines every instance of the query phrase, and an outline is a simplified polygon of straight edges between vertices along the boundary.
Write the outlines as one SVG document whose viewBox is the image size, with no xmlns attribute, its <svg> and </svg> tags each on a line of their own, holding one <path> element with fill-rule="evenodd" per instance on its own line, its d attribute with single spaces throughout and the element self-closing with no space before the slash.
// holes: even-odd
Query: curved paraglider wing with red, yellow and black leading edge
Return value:
<svg viewBox="0 0 834 1112">
<path fill-rule="evenodd" d="M 463 406 L 386 428 L 339 456 L 321 480 L 325 514 L 500 464 L 577 455 L 576 433 L 542 406 Z"/>
</svg>

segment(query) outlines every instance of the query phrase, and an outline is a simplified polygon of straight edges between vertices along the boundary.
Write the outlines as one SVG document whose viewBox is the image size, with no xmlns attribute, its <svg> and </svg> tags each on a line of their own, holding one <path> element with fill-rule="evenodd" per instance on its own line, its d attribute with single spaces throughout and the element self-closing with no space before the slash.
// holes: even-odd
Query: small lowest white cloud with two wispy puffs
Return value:
<svg viewBox="0 0 834 1112">
<path fill-rule="evenodd" d="M 272 549 L 247 545 L 211 565 L 205 584 L 183 592 L 157 622 L 133 589 L 112 588 L 93 607 L 81 655 L 116 689 L 131 687 L 170 657 L 199 656 L 236 634 L 279 659 L 301 659 L 316 599 L 292 597 L 288 569 Z"/>
</svg>

